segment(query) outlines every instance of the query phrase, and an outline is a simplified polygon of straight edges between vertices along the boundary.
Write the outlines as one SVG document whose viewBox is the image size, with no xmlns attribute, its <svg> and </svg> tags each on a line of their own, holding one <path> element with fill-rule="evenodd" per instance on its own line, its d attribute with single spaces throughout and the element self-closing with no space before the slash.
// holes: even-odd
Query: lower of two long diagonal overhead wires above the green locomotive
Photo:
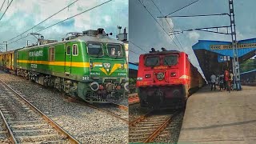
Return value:
<svg viewBox="0 0 256 144">
<path fill-rule="evenodd" d="M 54 23 L 53 25 L 47 26 L 47 27 L 43 28 L 42 30 L 46 30 L 46 29 L 50 28 L 51 26 L 58 25 L 58 24 L 61 23 L 61 22 L 65 22 L 66 20 L 69 20 L 70 18 L 74 18 L 74 17 L 76 17 L 76 16 L 78 16 L 78 15 L 80 15 L 80 14 L 86 13 L 87 11 L 93 10 L 93 9 L 97 8 L 98 6 L 102 6 L 102 5 L 104 5 L 104 4 L 108 3 L 108 2 L 111 2 L 111 1 L 113 1 L 113 0 L 109 0 L 109 1 L 103 2 L 103 3 L 101 3 L 101 4 L 97 5 L 97 6 L 94 6 L 94 7 L 90 8 L 90 9 L 88 9 L 88 10 L 82 11 L 82 12 L 79 13 L 79 14 L 75 14 L 75 15 L 73 15 L 73 16 L 71 16 L 71 17 L 69 17 L 69 18 L 66 18 L 66 19 L 64 19 L 64 20 L 62 20 L 62 21 L 60 21 L 60 22 L 56 22 L 56 23 Z M 34 32 L 34 33 L 38 33 L 38 32 L 40 32 L 40 31 L 42 31 L 42 30 L 38 30 L 38 31 L 36 31 L 36 32 Z M 18 42 L 19 40 L 21 40 L 21 39 L 23 39 L 23 38 L 26 38 L 26 37 L 28 37 L 28 36 L 30 36 L 30 35 L 26 35 L 25 37 L 19 38 L 18 40 L 14 41 L 14 42 Z M 10 42 L 9 44 L 14 43 L 14 42 Z"/>
</svg>

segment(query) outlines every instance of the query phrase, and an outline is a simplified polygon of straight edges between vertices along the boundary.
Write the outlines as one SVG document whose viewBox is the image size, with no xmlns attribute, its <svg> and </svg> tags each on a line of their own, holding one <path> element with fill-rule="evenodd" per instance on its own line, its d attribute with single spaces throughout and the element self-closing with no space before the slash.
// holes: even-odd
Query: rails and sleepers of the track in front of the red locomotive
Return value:
<svg viewBox="0 0 256 144">
<path fill-rule="evenodd" d="M 129 142 L 153 142 L 179 113 L 181 110 L 152 110 L 135 119 L 129 123 Z"/>
</svg>

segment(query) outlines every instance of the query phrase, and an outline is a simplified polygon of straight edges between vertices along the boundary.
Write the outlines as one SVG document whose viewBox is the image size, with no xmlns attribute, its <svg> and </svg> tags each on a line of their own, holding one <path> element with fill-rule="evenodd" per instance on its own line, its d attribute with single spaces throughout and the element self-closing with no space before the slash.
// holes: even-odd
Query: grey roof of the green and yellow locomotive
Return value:
<svg viewBox="0 0 256 144">
<path fill-rule="evenodd" d="M 22 50 L 33 49 L 33 48 L 38 48 L 38 47 L 42 47 L 42 46 L 52 46 L 52 45 L 57 45 L 57 44 L 61 44 L 61 43 L 66 43 L 66 42 L 102 42 L 102 43 L 123 44 L 122 41 L 119 41 L 119 40 L 114 39 L 114 38 L 110 38 L 110 37 L 108 37 L 106 35 L 102 35 L 102 34 L 98 35 L 98 36 L 82 35 L 82 36 L 79 36 L 77 38 L 73 38 L 73 39 L 66 40 L 66 41 L 47 43 L 45 45 L 39 45 L 39 46 L 24 47 L 24 48 L 22 48 Z"/>
</svg>

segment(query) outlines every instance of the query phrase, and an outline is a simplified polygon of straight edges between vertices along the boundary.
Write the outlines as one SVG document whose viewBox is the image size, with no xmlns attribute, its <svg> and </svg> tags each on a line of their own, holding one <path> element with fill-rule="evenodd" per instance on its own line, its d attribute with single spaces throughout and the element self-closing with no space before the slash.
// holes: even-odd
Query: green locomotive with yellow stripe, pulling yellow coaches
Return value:
<svg viewBox="0 0 256 144">
<path fill-rule="evenodd" d="M 44 42 L 0 53 L 0 66 L 86 102 L 104 103 L 124 97 L 128 73 L 123 42 L 108 37 L 103 29 L 69 33 L 62 42 Z"/>
</svg>

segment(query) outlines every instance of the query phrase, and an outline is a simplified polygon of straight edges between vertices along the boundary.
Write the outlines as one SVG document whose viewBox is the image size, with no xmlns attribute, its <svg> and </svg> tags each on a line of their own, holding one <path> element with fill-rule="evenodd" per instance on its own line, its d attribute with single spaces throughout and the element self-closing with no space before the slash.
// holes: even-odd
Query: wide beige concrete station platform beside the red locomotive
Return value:
<svg viewBox="0 0 256 144">
<path fill-rule="evenodd" d="M 178 144 L 256 143 L 256 86 L 210 91 L 188 98 Z"/>
</svg>

